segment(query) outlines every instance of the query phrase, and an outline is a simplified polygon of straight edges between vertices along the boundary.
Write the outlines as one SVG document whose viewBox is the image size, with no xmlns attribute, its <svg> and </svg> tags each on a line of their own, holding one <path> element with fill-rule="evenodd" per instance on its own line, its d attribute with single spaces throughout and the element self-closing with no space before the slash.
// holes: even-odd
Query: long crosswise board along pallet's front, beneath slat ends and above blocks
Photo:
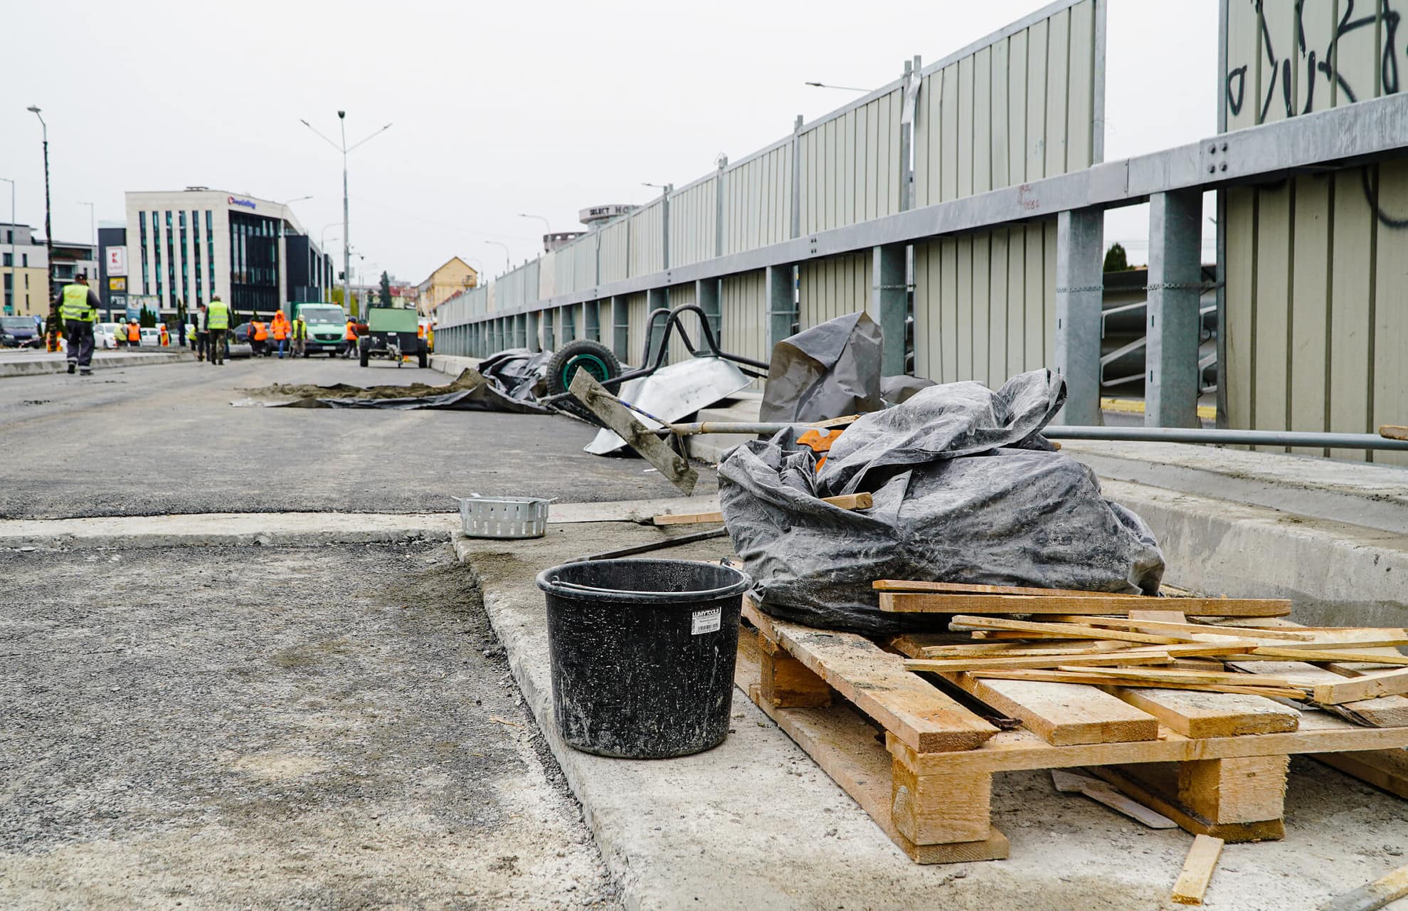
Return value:
<svg viewBox="0 0 1408 911">
<path fill-rule="evenodd" d="M 887 736 L 890 750 L 910 749 Z M 945 772 L 1015 772 L 1021 769 L 1069 769 L 1121 763 L 1187 762 L 1194 759 L 1235 759 L 1283 753 L 1328 753 L 1342 750 L 1377 750 L 1408 746 L 1408 728 L 1364 728 L 1349 721 L 1304 712 L 1298 731 L 1260 736 L 1186 738 L 1160 728 L 1156 741 L 1119 743 L 1074 743 L 1052 746 L 1025 729 L 1002 731 L 981 749 L 949 753 L 915 753 L 911 767 L 922 774 Z M 917 758 L 917 759 L 915 759 Z M 1163 812 L 1160 810 L 1160 812 Z"/>
</svg>

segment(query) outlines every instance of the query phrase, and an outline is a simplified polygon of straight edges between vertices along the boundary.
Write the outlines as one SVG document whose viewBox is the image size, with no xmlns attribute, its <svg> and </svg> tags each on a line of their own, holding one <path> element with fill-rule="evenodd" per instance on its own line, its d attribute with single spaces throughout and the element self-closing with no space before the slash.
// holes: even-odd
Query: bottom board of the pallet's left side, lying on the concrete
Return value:
<svg viewBox="0 0 1408 911">
<path fill-rule="evenodd" d="M 739 649 L 743 679 L 758 679 L 756 651 Z M 995 828 L 979 842 L 915 845 L 894 827 L 891 818 L 893 759 L 876 741 L 876 729 L 846 705 L 822 708 L 777 708 L 760 701 L 759 687 L 749 698 L 767 714 L 822 772 L 841 786 L 911 860 L 917 863 L 967 863 L 1007 857 L 1007 836 Z"/>
</svg>

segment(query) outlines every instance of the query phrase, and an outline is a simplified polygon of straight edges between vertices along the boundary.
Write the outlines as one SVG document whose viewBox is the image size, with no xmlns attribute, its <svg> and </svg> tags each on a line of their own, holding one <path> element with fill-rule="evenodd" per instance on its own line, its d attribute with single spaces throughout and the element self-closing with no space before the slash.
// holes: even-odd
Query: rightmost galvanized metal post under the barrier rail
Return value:
<svg viewBox="0 0 1408 911">
<path fill-rule="evenodd" d="M 1202 193 L 1149 197 L 1145 424 L 1198 427 Z"/>
</svg>

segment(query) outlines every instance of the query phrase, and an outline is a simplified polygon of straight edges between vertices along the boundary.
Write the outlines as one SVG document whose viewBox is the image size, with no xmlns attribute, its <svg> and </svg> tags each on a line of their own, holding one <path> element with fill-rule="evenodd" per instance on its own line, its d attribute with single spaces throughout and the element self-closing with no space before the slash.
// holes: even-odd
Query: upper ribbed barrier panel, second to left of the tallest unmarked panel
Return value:
<svg viewBox="0 0 1408 911">
<path fill-rule="evenodd" d="M 724 253 L 791 237 L 791 139 L 773 144 L 724 170 Z"/>
</svg>

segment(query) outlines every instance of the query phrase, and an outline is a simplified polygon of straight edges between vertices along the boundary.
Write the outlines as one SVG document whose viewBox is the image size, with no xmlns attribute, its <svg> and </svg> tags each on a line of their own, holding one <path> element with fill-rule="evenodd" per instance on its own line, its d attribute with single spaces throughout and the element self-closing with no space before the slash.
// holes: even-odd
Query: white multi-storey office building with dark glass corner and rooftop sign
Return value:
<svg viewBox="0 0 1408 911">
<path fill-rule="evenodd" d="M 289 206 L 210 187 L 127 193 L 125 251 L 128 306 L 162 314 L 220 294 L 268 315 L 334 284 L 332 259 Z"/>
</svg>

